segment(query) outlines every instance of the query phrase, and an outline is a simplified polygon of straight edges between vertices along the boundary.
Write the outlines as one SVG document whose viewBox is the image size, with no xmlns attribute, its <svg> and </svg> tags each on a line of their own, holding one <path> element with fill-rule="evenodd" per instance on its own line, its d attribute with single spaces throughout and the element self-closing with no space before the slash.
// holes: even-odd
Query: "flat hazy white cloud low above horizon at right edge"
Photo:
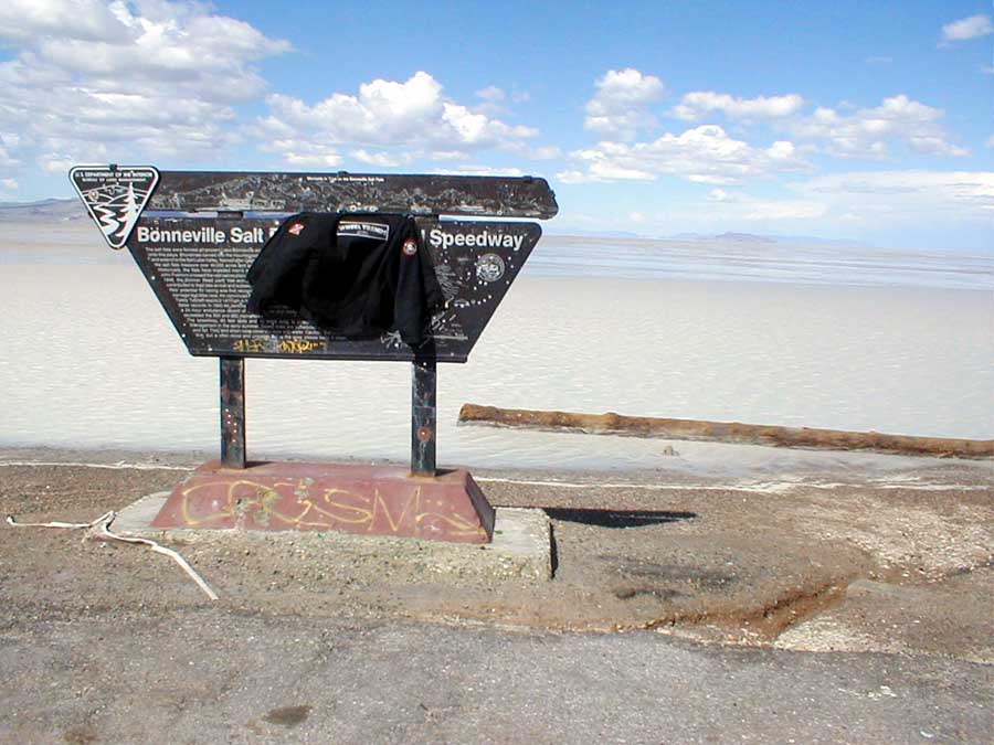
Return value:
<svg viewBox="0 0 994 745">
<path fill-rule="evenodd" d="M 920 223 L 994 219 L 994 172 L 876 171 L 835 173 L 792 187 L 828 203 L 834 214 Z"/>
</svg>

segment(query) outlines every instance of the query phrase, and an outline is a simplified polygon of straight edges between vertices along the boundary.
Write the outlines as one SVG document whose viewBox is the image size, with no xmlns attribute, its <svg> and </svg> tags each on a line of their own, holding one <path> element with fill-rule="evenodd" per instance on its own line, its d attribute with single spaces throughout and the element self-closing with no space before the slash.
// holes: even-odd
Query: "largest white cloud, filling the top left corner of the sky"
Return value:
<svg viewBox="0 0 994 745">
<path fill-rule="evenodd" d="M 289 49 L 195 2 L 7 0 L 0 129 L 15 156 L 66 161 L 210 152 L 232 141 L 232 106 L 261 96 L 254 63 Z"/>
</svg>

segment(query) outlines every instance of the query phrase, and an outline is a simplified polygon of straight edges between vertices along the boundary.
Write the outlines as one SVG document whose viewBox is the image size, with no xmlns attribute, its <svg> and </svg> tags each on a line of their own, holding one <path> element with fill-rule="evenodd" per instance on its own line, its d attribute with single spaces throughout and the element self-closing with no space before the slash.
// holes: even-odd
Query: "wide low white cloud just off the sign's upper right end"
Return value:
<svg viewBox="0 0 994 745">
<path fill-rule="evenodd" d="M 676 175 L 697 183 L 726 185 L 807 168 L 791 142 L 754 148 L 729 137 L 717 125 L 704 125 L 680 135 L 666 134 L 648 142 L 600 142 L 570 155 L 585 170 L 559 173 L 558 178 L 567 183 L 653 181 L 659 175 Z"/>
</svg>

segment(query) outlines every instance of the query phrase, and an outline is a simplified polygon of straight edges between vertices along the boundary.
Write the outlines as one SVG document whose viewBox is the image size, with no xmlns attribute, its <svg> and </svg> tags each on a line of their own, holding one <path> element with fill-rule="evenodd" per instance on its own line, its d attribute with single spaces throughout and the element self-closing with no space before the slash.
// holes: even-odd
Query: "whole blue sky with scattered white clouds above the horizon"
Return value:
<svg viewBox="0 0 994 745">
<path fill-rule="evenodd" d="M 992 249 L 988 2 L 0 8 L 0 200 L 81 162 L 535 174 L 559 232 Z"/>
</svg>

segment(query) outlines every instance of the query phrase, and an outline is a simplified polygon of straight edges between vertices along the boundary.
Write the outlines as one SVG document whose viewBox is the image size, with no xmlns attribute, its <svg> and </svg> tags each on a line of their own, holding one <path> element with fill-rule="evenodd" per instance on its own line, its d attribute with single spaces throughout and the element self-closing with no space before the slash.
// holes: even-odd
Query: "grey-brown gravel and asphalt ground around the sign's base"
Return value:
<svg viewBox="0 0 994 745">
<path fill-rule="evenodd" d="M 0 451 L 0 511 L 89 521 L 195 461 Z M 210 603 L 146 550 L 3 526 L 0 737 L 723 742 L 740 726 L 748 742 L 990 741 L 988 464 L 475 477 L 495 504 L 549 513 L 550 582 L 336 561 L 294 535 L 173 545 Z M 560 690 L 575 701 L 557 705 Z M 713 724 L 686 709 L 717 703 Z"/>
</svg>

